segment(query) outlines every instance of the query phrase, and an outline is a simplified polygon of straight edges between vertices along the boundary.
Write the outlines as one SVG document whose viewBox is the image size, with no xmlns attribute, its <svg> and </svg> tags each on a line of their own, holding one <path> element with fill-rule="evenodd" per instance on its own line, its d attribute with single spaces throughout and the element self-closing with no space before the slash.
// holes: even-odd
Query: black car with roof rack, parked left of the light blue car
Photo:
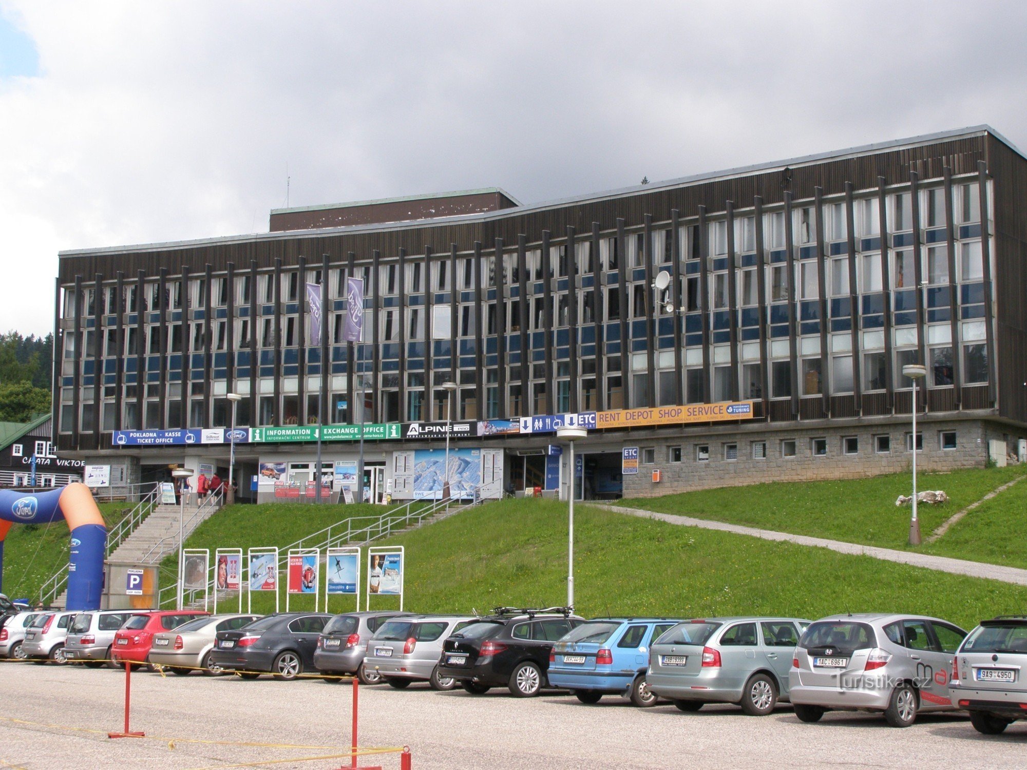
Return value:
<svg viewBox="0 0 1027 770">
<path fill-rule="evenodd" d="M 545 672 L 553 645 L 583 622 L 568 608 L 497 608 L 443 643 L 438 677 L 452 678 L 476 695 L 493 687 L 522 698 L 538 695 L 549 686 Z"/>
</svg>

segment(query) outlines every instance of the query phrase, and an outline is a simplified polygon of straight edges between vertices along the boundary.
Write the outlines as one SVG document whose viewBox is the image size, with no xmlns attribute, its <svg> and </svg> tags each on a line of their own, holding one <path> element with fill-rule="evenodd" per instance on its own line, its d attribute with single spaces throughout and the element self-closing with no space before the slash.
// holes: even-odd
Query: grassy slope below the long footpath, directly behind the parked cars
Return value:
<svg viewBox="0 0 1027 770">
<path fill-rule="evenodd" d="M 575 605 L 585 616 L 896 611 L 972 626 L 1027 604 L 1027 587 L 586 506 L 575 513 Z M 469 613 L 567 601 L 563 503 L 492 502 L 382 544 L 406 546 L 406 609 Z M 294 609 L 313 606 L 301 602 Z M 332 602 L 335 611 L 353 606 Z M 373 608 L 396 605 L 377 598 Z M 255 610 L 272 608 L 273 594 L 254 594 Z"/>
</svg>

